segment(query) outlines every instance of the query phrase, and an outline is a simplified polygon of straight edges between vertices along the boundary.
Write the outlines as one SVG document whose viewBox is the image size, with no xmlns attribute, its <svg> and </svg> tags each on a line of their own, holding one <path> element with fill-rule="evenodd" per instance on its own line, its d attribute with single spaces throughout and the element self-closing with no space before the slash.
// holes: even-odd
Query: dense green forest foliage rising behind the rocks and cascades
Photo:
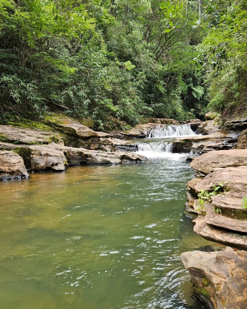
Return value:
<svg viewBox="0 0 247 309">
<path fill-rule="evenodd" d="M 0 121 L 246 111 L 247 3 L 0 0 Z"/>
</svg>

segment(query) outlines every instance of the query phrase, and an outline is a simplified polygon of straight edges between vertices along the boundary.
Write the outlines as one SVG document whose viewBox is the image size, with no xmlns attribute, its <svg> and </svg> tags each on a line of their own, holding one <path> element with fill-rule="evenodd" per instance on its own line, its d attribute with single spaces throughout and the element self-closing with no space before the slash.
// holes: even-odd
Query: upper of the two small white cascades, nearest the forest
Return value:
<svg viewBox="0 0 247 309">
<path fill-rule="evenodd" d="M 190 125 L 157 125 L 157 127 L 149 131 L 147 137 L 178 137 L 187 135 L 195 135 Z"/>
</svg>

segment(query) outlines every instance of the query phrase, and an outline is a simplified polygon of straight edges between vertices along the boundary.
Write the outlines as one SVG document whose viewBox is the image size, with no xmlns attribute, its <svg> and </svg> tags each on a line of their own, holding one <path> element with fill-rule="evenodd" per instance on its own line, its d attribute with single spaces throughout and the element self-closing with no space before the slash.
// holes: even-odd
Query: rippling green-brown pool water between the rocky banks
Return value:
<svg viewBox="0 0 247 309">
<path fill-rule="evenodd" d="M 202 308 L 180 260 L 212 245 L 182 215 L 193 174 L 181 156 L 1 182 L 2 308 Z"/>
</svg>

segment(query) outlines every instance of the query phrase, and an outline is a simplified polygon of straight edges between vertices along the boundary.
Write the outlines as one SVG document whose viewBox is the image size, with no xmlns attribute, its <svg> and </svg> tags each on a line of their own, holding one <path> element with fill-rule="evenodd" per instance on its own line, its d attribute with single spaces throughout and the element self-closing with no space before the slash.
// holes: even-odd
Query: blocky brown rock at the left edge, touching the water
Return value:
<svg viewBox="0 0 247 309">
<path fill-rule="evenodd" d="M 0 150 L 0 180 L 27 179 L 23 159 L 14 151 Z"/>
</svg>

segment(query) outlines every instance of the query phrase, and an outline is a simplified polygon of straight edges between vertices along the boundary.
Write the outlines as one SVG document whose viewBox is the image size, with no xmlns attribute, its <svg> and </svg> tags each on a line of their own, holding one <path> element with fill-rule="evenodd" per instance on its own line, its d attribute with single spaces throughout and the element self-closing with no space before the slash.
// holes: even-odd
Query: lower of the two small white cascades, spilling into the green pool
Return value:
<svg viewBox="0 0 247 309">
<path fill-rule="evenodd" d="M 172 152 L 172 143 L 159 141 L 159 142 L 138 142 L 138 151 L 136 153 L 144 155 L 147 158 L 165 157 Z"/>
</svg>

